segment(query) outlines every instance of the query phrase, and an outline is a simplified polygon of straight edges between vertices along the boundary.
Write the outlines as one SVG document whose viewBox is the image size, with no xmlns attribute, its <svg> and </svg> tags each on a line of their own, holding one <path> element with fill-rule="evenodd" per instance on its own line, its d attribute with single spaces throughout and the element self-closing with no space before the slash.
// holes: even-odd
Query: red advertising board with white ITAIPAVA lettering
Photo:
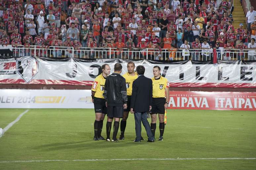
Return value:
<svg viewBox="0 0 256 170">
<path fill-rule="evenodd" d="M 170 91 L 168 108 L 256 111 L 256 92 Z"/>
</svg>

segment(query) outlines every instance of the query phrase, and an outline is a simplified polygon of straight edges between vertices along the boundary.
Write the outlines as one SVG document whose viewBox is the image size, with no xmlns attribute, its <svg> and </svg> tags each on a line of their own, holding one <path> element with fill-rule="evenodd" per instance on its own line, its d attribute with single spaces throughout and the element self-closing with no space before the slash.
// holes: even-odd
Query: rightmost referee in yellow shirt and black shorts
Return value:
<svg viewBox="0 0 256 170">
<path fill-rule="evenodd" d="M 151 115 L 151 131 L 153 136 L 155 136 L 156 129 L 156 114 L 159 118 L 159 130 L 160 136 L 159 141 L 163 140 L 164 133 L 164 112 L 167 109 L 169 104 L 169 82 L 166 78 L 161 76 L 161 69 L 159 66 L 153 67 L 152 84 L 153 84 L 153 100 L 152 100 L 152 109 L 150 110 Z M 155 139 L 155 138 L 154 138 Z"/>
</svg>

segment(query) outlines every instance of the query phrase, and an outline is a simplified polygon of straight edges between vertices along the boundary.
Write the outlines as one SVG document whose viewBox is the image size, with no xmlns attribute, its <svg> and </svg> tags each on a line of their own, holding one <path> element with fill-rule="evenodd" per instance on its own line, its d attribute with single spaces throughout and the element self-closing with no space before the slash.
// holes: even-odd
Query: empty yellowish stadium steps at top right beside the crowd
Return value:
<svg viewBox="0 0 256 170">
<path fill-rule="evenodd" d="M 233 11 L 233 26 L 235 28 L 239 28 L 239 24 L 243 23 L 243 27 L 246 28 L 245 25 L 245 15 L 244 15 L 244 11 L 243 11 L 243 6 L 240 2 L 240 0 L 234 0 L 234 11 Z"/>
</svg>

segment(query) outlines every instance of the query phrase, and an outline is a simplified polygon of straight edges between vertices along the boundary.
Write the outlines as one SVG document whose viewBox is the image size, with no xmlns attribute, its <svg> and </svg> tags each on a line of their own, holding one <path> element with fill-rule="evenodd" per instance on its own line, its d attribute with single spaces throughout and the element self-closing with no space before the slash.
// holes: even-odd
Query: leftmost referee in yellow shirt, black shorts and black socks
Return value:
<svg viewBox="0 0 256 170">
<path fill-rule="evenodd" d="M 94 138 L 93 140 L 105 140 L 101 136 L 103 127 L 103 120 L 107 114 L 107 107 L 105 99 L 103 97 L 104 86 L 107 75 L 110 74 L 110 67 L 108 64 L 101 66 L 102 74 L 96 77 L 92 85 L 92 102 L 95 110 L 95 121 L 94 121 Z"/>
</svg>

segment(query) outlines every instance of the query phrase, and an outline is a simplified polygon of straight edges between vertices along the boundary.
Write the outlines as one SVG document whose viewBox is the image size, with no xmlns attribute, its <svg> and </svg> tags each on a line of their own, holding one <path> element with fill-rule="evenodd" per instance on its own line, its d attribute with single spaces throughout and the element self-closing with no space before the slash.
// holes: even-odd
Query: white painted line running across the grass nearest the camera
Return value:
<svg viewBox="0 0 256 170">
<path fill-rule="evenodd" d="M 0 161 L 0 163 L 16 163 L 16 162 L 75 162 L 75 161 L 118 161 L 118 160 L 254 160 L 253 158 L 134 158 L 134 159 L 76 159 L 76 160 L 17 160 L 17 161 Z"/>
</svg>

